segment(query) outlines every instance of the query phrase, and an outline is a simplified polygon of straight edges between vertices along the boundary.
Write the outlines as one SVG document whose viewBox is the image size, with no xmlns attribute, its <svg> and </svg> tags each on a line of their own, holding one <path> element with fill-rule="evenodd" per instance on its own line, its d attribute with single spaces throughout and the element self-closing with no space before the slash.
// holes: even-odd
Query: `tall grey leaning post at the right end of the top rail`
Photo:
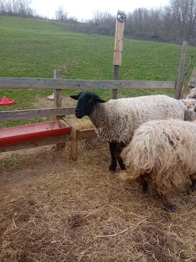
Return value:
<svg viewBox="0 0 196 262">
<path fill-rule="evenodd" d="M 180 65 L 179 65 L 179 68 L 178 68 L 178 75 L 177 75 L 177 82 L 176 82 L 176 91 L 175 91 L 175 95 L 174 95 L 175 99 L 180 98 L 180 92 L 181 92 L 181 87 L 182 87 L 182 74 L 183 74 L 183 69 L 184 69 L 184 65 L 185 65 L 186 47 L 187 47 L 187 41 L 183 41 L 181 58 L 180 58 Z"/>
</svg>

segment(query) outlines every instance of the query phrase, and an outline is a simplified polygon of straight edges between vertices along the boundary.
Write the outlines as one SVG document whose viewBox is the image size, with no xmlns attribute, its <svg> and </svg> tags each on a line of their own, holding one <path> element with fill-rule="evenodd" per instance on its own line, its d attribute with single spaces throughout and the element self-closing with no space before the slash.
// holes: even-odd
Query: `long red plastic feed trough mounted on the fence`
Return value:
<svg viewBox="0 0 196 262">
<path fill-rule="evenodd" d="M 4 128 L 0 129 L 0 146 L 67 134 L 70 131 L 71 127 L 61 128 L 59 120 Z"/>
</svg>

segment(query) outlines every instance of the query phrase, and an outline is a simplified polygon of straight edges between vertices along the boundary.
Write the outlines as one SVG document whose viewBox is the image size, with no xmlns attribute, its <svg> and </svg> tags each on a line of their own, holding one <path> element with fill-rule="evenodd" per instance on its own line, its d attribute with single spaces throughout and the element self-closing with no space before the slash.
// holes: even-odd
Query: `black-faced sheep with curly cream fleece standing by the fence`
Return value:
<svg viewBox="0 0 196 262">
<path fill-rule="evenodd" d="M 109 142 L 111 165 L 114 171 L 117 160 L 121 170 L 124 162 L 120 156 L 122 149 L 131 141 L 135 130 L 150 120 L 180 118 L 192 116 L 183 101 L 166 95 L 151 95 L 109 100 L 105 103 L 97 94 L 90 91 L 79 92 L 71 98 L 78 100 L 75 116 L 88 116 L 95 125 L 95 132 L 102 141 Z"/>
</svg>

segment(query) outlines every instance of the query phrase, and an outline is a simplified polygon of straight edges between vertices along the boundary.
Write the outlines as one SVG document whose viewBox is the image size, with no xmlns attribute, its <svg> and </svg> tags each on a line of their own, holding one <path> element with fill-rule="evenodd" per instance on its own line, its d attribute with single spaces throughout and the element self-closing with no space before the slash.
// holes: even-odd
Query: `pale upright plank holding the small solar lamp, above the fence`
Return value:
<svg viewBox="0 0 196 262">
<path fill-rule="evenodd" d="M 118 10 L 117 13 L 125 14 L 124 11 Z M 116 19 L 116 33 L 114 43 L 114 65 L 121 65 L 122 51 L 123 51 L 123 33 L 124 22 L 120 22 Z"/>
</svg>

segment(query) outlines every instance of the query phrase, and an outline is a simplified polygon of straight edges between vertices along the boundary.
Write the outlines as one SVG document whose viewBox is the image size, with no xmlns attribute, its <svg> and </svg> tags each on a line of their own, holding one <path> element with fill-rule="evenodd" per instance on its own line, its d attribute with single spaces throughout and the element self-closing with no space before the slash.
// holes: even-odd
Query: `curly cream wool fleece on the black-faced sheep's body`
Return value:
<svg viewBox="0 0 196 262">
<path fill-rule="evenodd" d="M 150 120 L 184 120 L 187 107 L 166 95 L 151 95 L 96 103 L 89 118 L 102 141 L 128 144 L 135 130 Z"/>
</svg>

